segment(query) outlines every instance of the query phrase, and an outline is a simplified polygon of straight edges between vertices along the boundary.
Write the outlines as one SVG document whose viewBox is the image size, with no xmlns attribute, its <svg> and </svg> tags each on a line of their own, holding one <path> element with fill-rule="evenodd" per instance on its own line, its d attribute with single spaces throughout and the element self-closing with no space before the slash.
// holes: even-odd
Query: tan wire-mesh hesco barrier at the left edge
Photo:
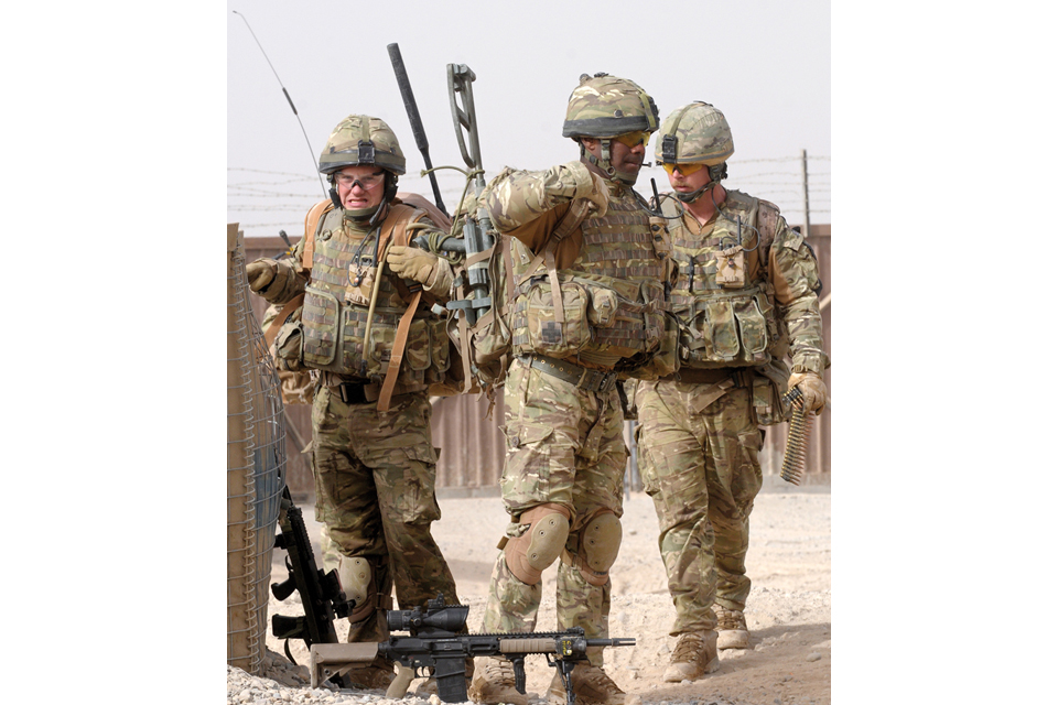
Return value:
<svg viewBox="0 0 1058 705">
<path fill-rule="evenodd" d="M 227 279 L 228 664 L 261 675 L 287 426 L 279 377 L 249 303 L 242 232 L 233 224 Z"/>
</svg>

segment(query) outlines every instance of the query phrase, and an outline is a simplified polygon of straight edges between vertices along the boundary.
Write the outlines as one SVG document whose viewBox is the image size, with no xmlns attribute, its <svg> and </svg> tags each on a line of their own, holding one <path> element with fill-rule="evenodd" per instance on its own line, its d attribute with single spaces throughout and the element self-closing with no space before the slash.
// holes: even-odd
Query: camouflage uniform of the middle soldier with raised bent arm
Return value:
<svg viewBox="0 0 1058 705">
<path fill-rule="evenodd" d="M 648 214 L 631 188 L 593 174 L 582 162 L 546 172 L 507 171 L 483 198 L 496 228 L 514 238 L 514 269 L 520 279 L 510 324 L 517 357 L 504 392 L 508 447 L 500 487 L 511 523 L 501 546 L 526 533 L 529 510 L 563 508 L 570 528 L 558 570 L 558 628 L 582 627 L 590 638 L 606 637 L 609 566 L 586 565 L 583 544 L 593 521 L 616 521 L 622 514 L 627 448 L 616 376 L 635 367 L 633 358 L 641 361 L 657 350 L 665 268 Z M 557 324 L 548 317 L 551 282 L 540 274 L 543 270 L 529 275 L 527 262 L 544 248 L 572 204 L 583 200 L 593 204 L 587 217 L 554 250 L 566 316 Z M 569 293 L 579 285 L 589 292 L 590 303 L 582 308 L 576 294 Z M 600 311 L 611 305 L 607 291 L 620 291 L 631 302 L 639 296 L 636 313 L 625 308 L 635 303 L 617 296 L 613 317 L 620 323 L 600 324 Z M 573 317 L 575 312 L 580 317 Z M 626 322 L 633 323 L 625 328 Z M 613 551 L 616 556 L 616 545 Z M 519 579 L 500 553 L 483 630 L 533 630 L 540 598 L 540 584 Z M 593 651 L 591 662 L 602 665 L 601 650 Z"/>
</svg>

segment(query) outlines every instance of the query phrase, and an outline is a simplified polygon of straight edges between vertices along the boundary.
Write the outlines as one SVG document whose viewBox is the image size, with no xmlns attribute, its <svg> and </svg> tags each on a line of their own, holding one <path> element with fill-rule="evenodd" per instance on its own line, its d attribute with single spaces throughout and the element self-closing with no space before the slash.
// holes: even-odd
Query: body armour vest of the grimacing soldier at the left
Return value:
<svg viewBox="0 0 1058 705">
<path fill-rule="evenodd" d="M 377 282 L 376 261 L 386 242 L 406 245 L 408 223 L 425 213 L 402 204 L 390 206 L 370 232 L 343 210 L 332 210 L 314 237 L 312 278 L 305 288 L 303 359 L 306 366 L 379 382 L 389 369 L 397 326 L 410 296 L 396 275 Z M 388 236 L 388 237 L 387 237 Z M 379 238 L 382 243 L 379 247 Z M 371 300 L 374 297 L 374 310 Z M 370 313 L 369 338 L 368 314 Z M 444 318 L 420 306 L 411 321 L 397 383 L 407 391 L 441 381 L 449 367 Z"/>
</svg>

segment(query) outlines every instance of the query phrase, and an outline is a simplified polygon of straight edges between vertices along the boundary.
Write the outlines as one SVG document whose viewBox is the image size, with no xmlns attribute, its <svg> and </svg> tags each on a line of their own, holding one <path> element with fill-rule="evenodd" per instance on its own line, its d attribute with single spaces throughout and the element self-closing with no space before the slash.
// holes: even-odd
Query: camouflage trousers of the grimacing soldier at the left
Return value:
<svg viewBox="0 0 1058 705">
<path fill-rule="evenodd" d="M 374 402 L 346 404 L 323 386 L 312 408 L 316 520 L 343 555 L 370 562 L 380 604 L 396 585 L 401 609 L 424 606 L 438 593 L 458 603 L 430 533 L 441 518 L 431 412 L 425 393 L 393 397 L 390 410 L 379 412 Z M 349 632 L 349 641 L 385 638 L 377 616 Z"/>
</svg>

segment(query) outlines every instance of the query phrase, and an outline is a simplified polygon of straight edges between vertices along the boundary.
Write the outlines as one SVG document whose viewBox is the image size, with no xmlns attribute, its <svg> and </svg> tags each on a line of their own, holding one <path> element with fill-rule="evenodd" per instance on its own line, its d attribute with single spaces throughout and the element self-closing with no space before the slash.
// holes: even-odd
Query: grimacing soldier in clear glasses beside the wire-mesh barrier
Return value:
<svg viewBox="0 0 1058 705">
<path fill-rule="evenodd" d="M 303 295 L 301 315 L 276 338 L 280 367 L 316 370 L 312 409 L 316 518 L 339 550 L 338 574 L 357 607 L 353 641 L 388 634 L 381 609 L 396 584 L 402 609 L 444 595 L 455 582 L 430 533 L 441 511 L 428 388 L 447 368 L 444 319 L 452 265 L 407 246 L 427 213 L 396 198 L 404 156 L 382 120 L 352 115 L 320 155 L 334 209 L 290 260 L 247 267 L 250 289 L 272 304 Z M 386 687 L 393 664 L 349 673 L 365 688 Z"/>
</svg>

